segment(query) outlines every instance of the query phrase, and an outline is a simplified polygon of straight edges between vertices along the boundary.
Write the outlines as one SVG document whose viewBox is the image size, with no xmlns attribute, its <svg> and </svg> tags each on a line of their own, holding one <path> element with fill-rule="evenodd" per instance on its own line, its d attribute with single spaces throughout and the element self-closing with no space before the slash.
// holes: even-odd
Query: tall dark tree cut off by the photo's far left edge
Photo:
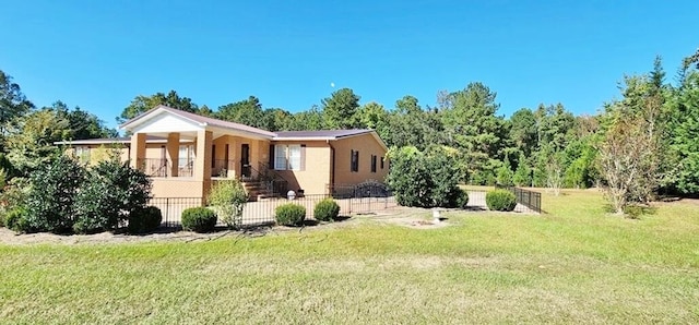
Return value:
<svg viewBox="0 0 699 325">
<path fill-rule="evenodd" d="M 0 151 L 4 149 L 8 124 L 33 108 L 34 105 L 22 94 L 20 85 L 13 83 L 12 76 L 0 70 Z"/>
</svg>

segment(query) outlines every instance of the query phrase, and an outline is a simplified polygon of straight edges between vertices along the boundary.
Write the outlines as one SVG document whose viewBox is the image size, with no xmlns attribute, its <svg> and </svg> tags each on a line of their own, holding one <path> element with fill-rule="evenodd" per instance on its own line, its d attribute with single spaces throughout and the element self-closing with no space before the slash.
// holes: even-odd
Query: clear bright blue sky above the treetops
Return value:
<svg viewBox="0 0 699 325">
<path fill-rule="evenodd" d="M 299 111 L 340 87 L 392 108 L 479 81 L 499 113 L 594 113 L 624 74 L 699 47 L 699 1 L 2 1 L 0 69 L 109 127 L 137 95 Z M 335 84 L 335 88 L 331 87 Z"/>
</svg>

